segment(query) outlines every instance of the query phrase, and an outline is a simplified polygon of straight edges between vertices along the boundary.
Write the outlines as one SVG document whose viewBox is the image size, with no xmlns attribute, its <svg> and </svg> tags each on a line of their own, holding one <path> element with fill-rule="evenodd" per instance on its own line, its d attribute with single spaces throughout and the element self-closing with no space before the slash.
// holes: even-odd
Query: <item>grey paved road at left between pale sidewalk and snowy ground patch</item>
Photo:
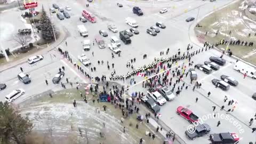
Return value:
<svg viewBox="0 0 256 144">
<path fill-rule="evenodd" d="M 66 82 L 66 78 L 69 79 L 69 82 L 72 82 L 75 86 L 76 82 L 79 83 L 88 83 L 88 79 L 86 79 L 81 73 L 79 73 L 73 65 L 68 62 L 67 59 L 63 59 L 57 51 L 50 51 L 49 53 L 43 55 L 44 59 L 39 61 L 33 65 L 29 65 L 27 62 L 22 63 L 17 67 L 10 68 L 8 70 L 1 72 L 1 83 L 5 83 L 7 85 L 6 89 L 0 91 L 0 101 L 5 100 L 5 95 L 9 94 L 11 91 L 16 89 L 25 90 L 25 94 L 19 97 L 14 103 L 19 103 L 21 101 L 27 100 L 30 97 L 33 97 L 36 94 L 52 90 L 58 91 L 61 90 L 62 87 L 60 84 L 53 84 L 52 78 L 55 74 L 58 73 L 59 68 L 65 67 L 65 76 L 62 78 L 61 82 L 63 82 L 67 88 L 71 87 Z M 20 67 L 23 68 L 25 74 L 29 74 L 31 77 L 31 83 L 23 84 L 19 81 L 17 75 L 21 72 Z M 46 86 L 45 79 L 47 79 L 49 85 Z"/>
</svg>

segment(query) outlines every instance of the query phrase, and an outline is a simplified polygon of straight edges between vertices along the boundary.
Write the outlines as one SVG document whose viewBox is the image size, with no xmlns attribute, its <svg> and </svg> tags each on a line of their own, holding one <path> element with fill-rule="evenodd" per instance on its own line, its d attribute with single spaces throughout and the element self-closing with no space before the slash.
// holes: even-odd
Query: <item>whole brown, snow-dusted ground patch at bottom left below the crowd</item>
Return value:
<svg viewBox="0 0 256 144">
<path fill-rule="evenodd" d="M 51 98 L 46 93 L 21 103 L 19 109 L 22 115 L 27 115 L 35 124 L 34 131 L 47 133 L 53 142 L 71 139 L 70 143 L 89 141 L 132 144 L 139 143 L 140 138 L 143 138 L 143 143 L 163 143 L 160 136 L 152 140 L 145 135 L 146 130 L 150 131 L 150 126 L 137 121 L 137 114 L 130 115 L 121 123 L 120 119 L 123 116 L 119 107 L 115 108 L 109 102 L 98 103 L 97 98 L 91 94 L 86 96 L 88 103 L 85 103 L 80 91 L 85 94 L 84 90 L 69 89 L 53 93 Z M 73 106 L 74 99 L 77 101 L 76 108 Z M 93 99 L 95 103 L 92 102 Z M 106 111 L 103 110 L 103 105 L 107 106 Z M 139 125 L 139 129 L 136 129 L 136 124 Z M 103 138 L 100 137 L 100 132 L 104 133 Z"/>
</svg>

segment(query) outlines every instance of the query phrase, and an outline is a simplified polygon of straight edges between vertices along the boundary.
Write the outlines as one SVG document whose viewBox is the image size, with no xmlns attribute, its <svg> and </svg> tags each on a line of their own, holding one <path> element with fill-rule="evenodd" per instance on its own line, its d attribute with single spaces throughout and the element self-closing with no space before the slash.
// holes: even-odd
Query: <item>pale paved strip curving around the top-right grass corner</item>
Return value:
<svg viewBox="0 0 256 144">
<path fill-rule="evenodd" d="M 224 6 L 222 6 L 222 7 L 219 7 L 218 9 L 216 9 L 216 10 L 214 10 L 214 11 L 212 11 L 212 12 L 206 14 L 204 17 L 202 17 L 201 19 L 197 20 L 197 23 L 199 23 L 199 21 L 202 21 L 205 17 L 209 16 L 210 14 L 212 14 L 212 13 L 214 13 L 214 12 L 216 12 L 216 11 L 219 11 L 219 10 L 221 10 L 221 9 L 223 9 L 223 8 L 225 8 L 225 7 L 227 7 L 227 6 L 229 6 L 230 4 L 236 3 L 236 2 L 238 2 L 238 1 L 239 1 L 239 0 L 236 0 L 236 1 L 234 1 L 234 2 L 231 2 L 231 3 L 228 3 L 228 4 L 224 5 Z M 189 34 L 188 34 L 189 39 L 190 39 L 190 41 L 191 41 L 193 44 L 195 44 L 195 45 L 197 45 L 197 46 L 199 46 L 199 47 L 203 47 L 203 46 L 201 46 L 202 43 L 198 42 L 197 40 L 196 40 L 196 42 L 195 42 L 194 39 L 191 38 L 191 37 L 194 37 L 194 38 L 196 37 L 195 34 L 193 35 L 193 34 L 190 33 L 190 30 L 191 30 L 191 29 L 192 29 L 192 30 L 195 29 L 195 26 L 196 26 L 196 23 L 193 23 L 193 24 L 191 24 L 191 25 L 189 26 Z M 192 36 L 192 35 L 193 35 L 193 36 Z M 221 52 L 221 50 L 218 49 L 217 47 L 215 47 L 215 46 L 213 46 L 213 47 L 214 47 L 215 50 Z M 225 54 L 225 55 L 227 55 L 227 54 Z M 235 58 L 235 59 L 238 59 L 239 61 L 242 61 L 242 62 L 246 63 L 247 65 L 250 65 L 250 66 L 256 68 L 256 66 L 253 65 L 252 63 L 247 62 L 247 61 L 245 61 L 245 60 L 243 60 L 243 59 L 241 59 L 241 58 L 238 58 L 238 57 L 236 57 L 235 55 L 231 55 L 231 57 L 232 57 L 232 58 Z"/>
</svg>

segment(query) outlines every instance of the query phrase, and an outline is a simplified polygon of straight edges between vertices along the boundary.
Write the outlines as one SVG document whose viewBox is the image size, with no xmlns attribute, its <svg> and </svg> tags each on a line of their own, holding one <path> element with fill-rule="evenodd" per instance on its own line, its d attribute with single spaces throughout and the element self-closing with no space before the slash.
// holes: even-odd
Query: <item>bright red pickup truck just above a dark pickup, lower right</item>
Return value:
<svg viewBox="0 0 256 144">
<path fill-rule="evenodd" d="M 188 120 L 191 124 L 198 121 L 198 117 L 193 112 L 185 107 L 179 106 L 176 111 L 177 115 L 180 115 Z"/>
</svg>

